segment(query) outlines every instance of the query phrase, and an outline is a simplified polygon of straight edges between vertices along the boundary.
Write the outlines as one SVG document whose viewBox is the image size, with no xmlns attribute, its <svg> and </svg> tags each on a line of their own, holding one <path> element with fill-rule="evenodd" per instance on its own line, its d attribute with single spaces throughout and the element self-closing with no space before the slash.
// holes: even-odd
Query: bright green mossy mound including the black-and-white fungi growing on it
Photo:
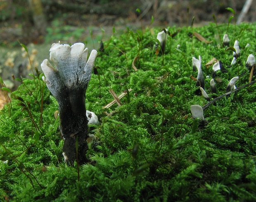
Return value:
<svg viewBox="0 0 256 202">
<path fill-rule="evenodd" d="M 167 27 L 161 56 L 161 28 L 57 43 L 0 79 L 1 200 L 256 201 L 256 24 L 216 25 Z"/>
</svg>

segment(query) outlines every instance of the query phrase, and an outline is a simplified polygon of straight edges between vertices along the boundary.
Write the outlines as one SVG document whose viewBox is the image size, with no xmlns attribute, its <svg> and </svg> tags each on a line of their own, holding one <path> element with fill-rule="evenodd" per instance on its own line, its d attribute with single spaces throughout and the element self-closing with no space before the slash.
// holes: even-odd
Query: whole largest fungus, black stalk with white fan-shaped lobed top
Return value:
<svg viewBox="0 0 256 202">
<path fill-rule="evenodd" d="M 88 119 L 85 109 L 85 92 L 97 51 L 92 50 L 87 60 L 88 49 L 83 43 L 69 45 L 52 44 L 50 60 L 41 64 L 45 81 L 50 92 L 59 103 L 60 129 L 63 135 L 63 152 L 70 164 L 76 160 L 76 140 L 78 140 L 78 162 L 87 162 Z"/>
</svg>

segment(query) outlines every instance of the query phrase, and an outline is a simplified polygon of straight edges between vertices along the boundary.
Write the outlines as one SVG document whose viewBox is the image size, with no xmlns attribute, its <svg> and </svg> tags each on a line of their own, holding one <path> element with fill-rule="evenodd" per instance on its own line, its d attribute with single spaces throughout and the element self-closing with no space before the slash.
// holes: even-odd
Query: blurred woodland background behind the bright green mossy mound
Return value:
<svg viewBox="0 0 256 202">
<path fill-rule="evenodd" d="M 84 42 L 89 52 L 113 33 L 167 26 L 204 26 L 237 19 L 246 0 L 0 0 L 0 76 L 6 87 L 16 89 L 14 78 L 29 78 L 31 68 L 49 58 L 53 42 Z M 152 22 L 152 16 L 154 21 Z M 256 1 L 251 0 L 245 22 L 256 21 Z M 232 19 L 231 23 L 234 23 Z M 114 29 L 113 29 L 114 27 Z M 156 35 L 156 33 L 155 33 Z M 156 37 L 156 36 L 155 36 Z M 22 43 L 27 46 L 30 55 Z M 31 77 L 30 77 L 31 78 Z M 1 91 L 0 91 L 1 94 Z"/>
</svg>

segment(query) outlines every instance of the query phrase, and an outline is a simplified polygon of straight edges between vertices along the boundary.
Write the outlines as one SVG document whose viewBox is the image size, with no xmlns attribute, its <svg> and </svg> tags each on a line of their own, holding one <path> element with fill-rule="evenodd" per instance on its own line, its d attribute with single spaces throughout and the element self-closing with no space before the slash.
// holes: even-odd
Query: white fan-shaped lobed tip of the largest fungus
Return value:
<svg viewBox="0 0 256 202">
<path fill-rule="evenodd" d="M 41 68 L 46 77 L 42 79 L 56 99 L 59 97 L 59 89 L 64 86 L 68 88 L 79 86 L 86 90 L 97 51 L 92 50 L 88 61 L 86 61 L 87 54 L 88 48 L 85 48 L 83 43 L 75 43 L 72 46 L 52 44 L 50 60 L 55 68 L 47 59 L 43 61 Z"/>
</svg>

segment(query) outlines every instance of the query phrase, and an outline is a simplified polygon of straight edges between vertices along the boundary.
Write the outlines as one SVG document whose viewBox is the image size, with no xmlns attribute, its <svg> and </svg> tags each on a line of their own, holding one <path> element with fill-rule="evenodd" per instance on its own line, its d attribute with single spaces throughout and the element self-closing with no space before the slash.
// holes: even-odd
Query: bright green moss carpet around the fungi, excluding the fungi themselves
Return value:
<svg viewBox="0 0 256 202">
<path fill-rule="evenodd" d="M 223 80 L 216 82 L 221 95 L 230 79 L 238 75 L 238 67 L 240 86 L 249 81 L 245 62 L 249 54 L 255 55 L 256 24 L 236 26 L 236 36 L 246 26 L 238 39 L 242 47 L 239 62 L 230 68 L 232 53 L 225 52 L 225 47 L 218 48 L 214 23 L 194 27 L 206 40 L 213 40 L 206 44 L 194 37 L 194 55 L 192 38 L 188 35 L 192 29 L 181 28 L 172 39 L 172 63 L 170 42 L 166 42 L 164 65 L 169 70 L 169 85 L 166 70 L 161 69 L 162 57 L 154 54 L 152 38 L 156 38 L 160 29 L 154 28 L 154 35 L 149 30 L 143 32 L 142 50 L 130 33 L 112 36 L 104 42 L 105 51 L 98 54 L 95 65 L 100 66 L 107 82 L 99 70 L 101 98 L 97 75 L 92 75 L 86 93 L 86 108 L 101 120 L 99 126 L 91 127 L 100 145 L 96 149 L 89 145 L 90 162 L 80 165 L 80 181 L 76 165 L 67 167 L 64 163 L 59 120 L 54 117 L 58 104 L 48 89 L 44 88 L 41 133 L 36 132 L 28 112 L 21 111 L 20 101 L 12 99 L 11 114 L 7 106 L 0 112 L 3 120 L 0 142 L 5 147 L 0 147 L 2 200 L 7 196 L 13 201 L 255 201 L 255 85 L 206 108 L 204 117 L 208 124 L 201 127 L 191 117 L 190 106 L 203 106 L 207 101 L 194 94 L 195 82 L 190 80 L 185 59 L 174 48 L 180 45 L 195 78 L 192 56 L 201 55 L 205 90 L 209 95 L 211 66 L 206 68 L 204 64 L 213 57 L 221 60 L 228 70 L 228 73 L 217 72 L 217 78 Z M 227 24 L 219 25 L 219 29 L 224 35 Z M 171 34 L 177 31 L 175 27 L 168 30 Z M 231 24 L 228 35 L 233 45 Z M 250 46 L 245 48 L 247 43 Z M 126 49 L 130 75 L 118 44 Z M 131 63 L 138 51 L 140 63 L 135 63 L 138 68 L 135 72 Z M 27 79 L 24 83 L 32 94 L 21 85 L 12 96 L 31 103 L 31 115 L 39 125 L 40 108 L 34 101 L 40 102 L 40 94 L 36 94 L 40 88 L 34 80 Z M 121 99 L 122 106 L 102 109 L 113 100 L 110 88 L 118 95 L 126 89 L 133 91 Z M 133 157 L 135 145 L 139 149 Z M 2 162 L 5 160 L 6 164 Z"/>
</svg>

